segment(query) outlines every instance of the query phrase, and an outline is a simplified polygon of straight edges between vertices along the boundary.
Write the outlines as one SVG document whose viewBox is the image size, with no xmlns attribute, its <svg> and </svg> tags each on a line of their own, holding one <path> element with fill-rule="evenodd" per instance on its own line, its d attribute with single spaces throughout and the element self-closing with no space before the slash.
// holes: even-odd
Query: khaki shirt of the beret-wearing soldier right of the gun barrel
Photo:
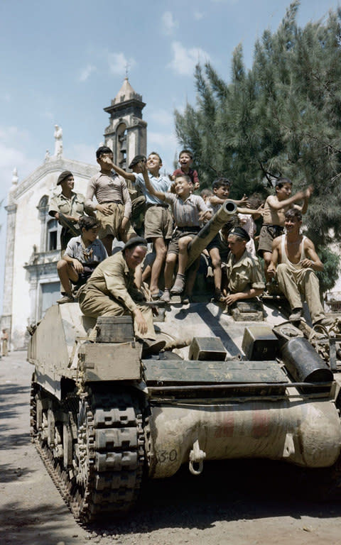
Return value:
<svg viewBox="0 0 341 545">
<path fill-rule="evenodd" d="M 227 279 L 230 293 L 245 292 L 251 287 L 255 290 L 264 290 L 265 287 L 259 260 L 247 251 L 244 251 L 237 263 L 234 255 L 229 253 Z"/>
</svg>

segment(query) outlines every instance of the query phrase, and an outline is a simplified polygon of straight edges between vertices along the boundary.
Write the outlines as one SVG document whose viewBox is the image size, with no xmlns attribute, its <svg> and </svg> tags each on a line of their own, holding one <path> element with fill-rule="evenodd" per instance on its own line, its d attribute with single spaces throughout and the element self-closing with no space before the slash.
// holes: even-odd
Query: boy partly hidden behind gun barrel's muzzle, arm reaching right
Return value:
<svg viewBox="0 0 341 545">
<path fill-rule="evenodd" d="M 229 199 L 229 190 L 231 188 L 231 182 L 227 178 L 220 177 L 215 180 L 212 184 L 212 197 L 207 198 L 207 204 L 212 209 L 212 216 L 217 213 L 217 211 L 222 207 L 222 204 Z M 245 204 L 247 205 L 247 197 L 244 195 L 242 199 L 234 200 L 229 199 L 234 202 L 234 204 Z M 248 213 L 248 209 L 237 208 L 237 211 L 240 213 Z M 215 280 L 215 301 L 222 301 L 222 258 L 220 256 L 220 237 L 219 234 L 212 239 L 212 241 L 207 245 L 207 251 L 210 254 L 212 261 L 212 270 L 213 278 Z"/>
</svg>

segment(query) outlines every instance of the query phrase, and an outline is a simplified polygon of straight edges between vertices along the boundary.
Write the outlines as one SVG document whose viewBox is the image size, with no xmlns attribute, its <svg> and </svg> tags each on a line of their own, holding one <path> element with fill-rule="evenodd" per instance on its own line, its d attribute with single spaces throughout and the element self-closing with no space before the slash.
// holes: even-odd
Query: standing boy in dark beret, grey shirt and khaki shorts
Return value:
<svg viewBox="0 0 341 545">
<path fill-rule="evenodd" d="M 126 182 L 116 173 L 112 172 L 114 155 L 106 145 L 102 145 L 96 151 L 97 163 L 101 167 L 87 186 L 85 206 L 97 211 L 99 221 L 99 238 L 112 255 L 112 243 L 116 237 L 126 242 L 136 236 L 129 221 L 131 215 L 131 198 Z M 96 197 L 97 204 L 92 202 Z"/>
</svg>

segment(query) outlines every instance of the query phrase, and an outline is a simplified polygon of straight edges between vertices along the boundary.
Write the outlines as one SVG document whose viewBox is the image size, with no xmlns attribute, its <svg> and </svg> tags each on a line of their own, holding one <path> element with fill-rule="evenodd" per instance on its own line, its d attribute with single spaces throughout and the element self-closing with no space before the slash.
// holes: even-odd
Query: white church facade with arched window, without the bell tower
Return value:
<svg viewBox="0 0 341 545">
<path fill-rule="evenodd" d="M 97 167 L 53 157 L 9 192 L 1 328 L 9 329 L 14 350 L 26 346 L 26 326 L 60 297 L 60 226 L 48 215 L 48 201 L 60 192 L 56 182 L 63 170 L 73 173 L 75 191 L 85 194 Z"/>
</svg>

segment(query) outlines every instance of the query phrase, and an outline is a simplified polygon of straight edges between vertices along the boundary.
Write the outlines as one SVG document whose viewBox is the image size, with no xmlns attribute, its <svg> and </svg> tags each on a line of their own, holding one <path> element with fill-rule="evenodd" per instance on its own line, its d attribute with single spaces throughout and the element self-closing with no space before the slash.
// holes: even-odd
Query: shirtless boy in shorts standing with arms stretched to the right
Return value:
<svg viewBox="0 0 341 545">
<path fill-rule="evenodd" d="M 264 273 L 266 282 L 269 282 L 268 267 L 272 257 L 272 241 L 277 236 L 283 235 L 286 212 L 290 208 L 296 208 L 305 214 L 308 209 L 309 197 L 313 192 L 313 186 L 304 191 L 298 191 L 291 197 L 293 182 L 288 178 L 279 178 L 276 182 L 276 195 L 269 195 L 264 204 L 263 226 L 259 233 L 258 253 L 264 259 Z M 296 204 L 303 201 L 303 205 Z"/>
</svg>

